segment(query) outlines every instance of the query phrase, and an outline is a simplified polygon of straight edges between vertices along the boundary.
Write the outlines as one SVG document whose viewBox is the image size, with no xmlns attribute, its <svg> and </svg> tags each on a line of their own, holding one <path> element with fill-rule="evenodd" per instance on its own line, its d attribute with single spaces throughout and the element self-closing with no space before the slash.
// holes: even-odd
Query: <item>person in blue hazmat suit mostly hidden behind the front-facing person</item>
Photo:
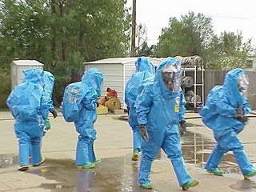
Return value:
<svg viewBox="0 0 256 192">
<path fill-rule="evenodd" d="M 141 136 L 138 130 L 138 120 L 135 110 L 135 102 L 138 96 L 138 87 L 143 80 L 154 75 L 154 66 L 149 58 L 139 57 L 135 62 L 136 73 L 131 76 L 126 84 L 125 102 L 128 109 L 128 122 L 133 131 L 133 161 L 138 161 L 138 154 L 141 151 Z"/>
</svg>

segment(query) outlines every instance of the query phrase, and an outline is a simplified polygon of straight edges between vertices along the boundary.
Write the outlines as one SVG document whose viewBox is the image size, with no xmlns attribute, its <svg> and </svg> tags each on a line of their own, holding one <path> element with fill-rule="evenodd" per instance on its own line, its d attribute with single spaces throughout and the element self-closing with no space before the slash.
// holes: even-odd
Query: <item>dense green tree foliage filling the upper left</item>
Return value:
<svg viewBox="0 0 256 192">
<path fill-rule="evenodd" d="M 36 59 L 63 89 L 81 77 L 83 62 L 127 54 L 130 14 L 125 5 L 126 0 L 2 0 L 1 67 L 14 58 Z"/>
</svg>

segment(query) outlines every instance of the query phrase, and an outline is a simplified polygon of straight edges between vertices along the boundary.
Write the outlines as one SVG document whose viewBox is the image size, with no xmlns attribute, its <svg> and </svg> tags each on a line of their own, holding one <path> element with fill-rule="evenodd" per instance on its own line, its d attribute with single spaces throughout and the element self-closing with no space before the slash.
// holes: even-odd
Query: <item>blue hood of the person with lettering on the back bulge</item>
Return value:
<svg viewBox="0 0 256 192">
<path fill-rule="evenodd" d="M 103 82 L 102 72 L 97 68 L 90 68 L 82 75 L 82 82 L 88 86 L 92 86 L 96 90 L 98 97 L 101 96 L 101 87 Z"/>
</svg>

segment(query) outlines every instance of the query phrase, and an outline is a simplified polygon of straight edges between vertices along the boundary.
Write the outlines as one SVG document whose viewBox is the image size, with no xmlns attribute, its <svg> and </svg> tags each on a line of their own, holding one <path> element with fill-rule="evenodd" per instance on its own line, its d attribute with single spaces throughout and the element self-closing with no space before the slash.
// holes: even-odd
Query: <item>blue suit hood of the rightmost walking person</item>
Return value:
<svg viewBox="0 0 256 192">
<path fill-rule="evenodd" d="M 223 92 L 234 107 L 242 106 L 243 96 L 238 90 L 238 78 L 245 74 L 242 69 L 230 70 L 224 79 Z"/>
</svg>

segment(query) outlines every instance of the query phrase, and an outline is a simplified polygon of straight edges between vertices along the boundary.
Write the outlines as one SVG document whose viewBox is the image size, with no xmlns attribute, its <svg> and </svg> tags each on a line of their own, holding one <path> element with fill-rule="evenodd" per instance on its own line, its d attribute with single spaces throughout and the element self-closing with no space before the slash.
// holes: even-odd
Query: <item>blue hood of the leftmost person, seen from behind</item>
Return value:
<svg viewBox="0 0 256 192">
<path fill-rule="evenodd" d="M 43 86 L 43 82 L 42 82 L 42 75 L 44 73 L 43 70 L 28 69 L 28 70 L 22 70 L 22 73 L 25 75 L 23 82 L 31 82 L 31 83 Z"/>
</svg>

